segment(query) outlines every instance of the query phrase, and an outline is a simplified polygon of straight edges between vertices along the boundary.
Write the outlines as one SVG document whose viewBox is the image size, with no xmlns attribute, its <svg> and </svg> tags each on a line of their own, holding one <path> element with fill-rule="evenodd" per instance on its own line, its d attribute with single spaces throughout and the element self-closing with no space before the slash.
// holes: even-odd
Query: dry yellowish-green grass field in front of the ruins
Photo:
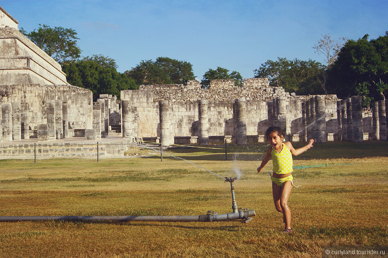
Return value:
<svg viewBox="0 0 388 258">
<path fill-rule="evenodd" d="M 296 146 L 295 146 L 296 145 Z M 294 144 L 298 147 L 298 144 Z M 322 257 L 323 246 L 388 246 L 388 141 L 332 142 L 294 158 L 283 234 L 264 145 L 166 150 L 234 183 L 256 216 L 226 222 L 2 222 L 0 257 Z M 0 160 L 0 216 L 200 215 L 231 210 L 230 184 L 152 150 L 125 159 Z M 325 165 L 325 166 L 321 166 Z M 311 167 L 308 167 L 311 166 Z M 386 253 L 387 255 L 387 253 Z"/>
</svg>

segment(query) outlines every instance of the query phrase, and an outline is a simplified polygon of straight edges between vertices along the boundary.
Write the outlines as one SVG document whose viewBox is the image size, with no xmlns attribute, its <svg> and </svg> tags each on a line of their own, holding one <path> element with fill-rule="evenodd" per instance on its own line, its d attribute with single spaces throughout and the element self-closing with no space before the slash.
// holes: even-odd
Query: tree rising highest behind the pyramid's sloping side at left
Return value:
<svg viewBox="0 0 388 258">
<path fill-rule="evenodd" d="M 45 24 L 39 24 L 39 26 L 37 30 L 29 33 L 20 28 L 20 32 L 59 63 L 80 58 L 81 49 L 77 46 L 79 38 L 75 30 L 62 27 L 51 28 Z"/>
</svg>

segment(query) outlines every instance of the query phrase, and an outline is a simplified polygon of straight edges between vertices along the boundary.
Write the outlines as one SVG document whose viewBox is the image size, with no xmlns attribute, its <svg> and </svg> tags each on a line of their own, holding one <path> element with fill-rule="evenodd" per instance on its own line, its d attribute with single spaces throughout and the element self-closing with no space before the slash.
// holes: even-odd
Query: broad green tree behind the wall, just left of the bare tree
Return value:
<svg viewBox="0 0 388 258">
<path fill-rule="evenodd" d="M 285 91 L 300 95 L 324 93 L 320 83 L 324 66 L 311 59 L 302 61 L 278 57 L 277 61 L 267 60 L 254 72 L 256 78 L 268 77 L 270 86 L 283 87 Z"/>
</svg>

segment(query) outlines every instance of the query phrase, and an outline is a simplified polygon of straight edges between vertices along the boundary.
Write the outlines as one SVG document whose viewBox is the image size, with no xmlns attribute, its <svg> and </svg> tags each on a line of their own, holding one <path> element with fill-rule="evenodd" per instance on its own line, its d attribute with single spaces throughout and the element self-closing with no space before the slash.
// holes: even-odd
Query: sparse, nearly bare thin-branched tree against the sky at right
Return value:
<svg viewBox="0 0 388 258">
<path fill-rule="evenodd" d="M 337 60 L 338 54 L 342 46 L 345 44 L 346 39 L 345 38 L 339 38 L 337 41 L 333 40 L 330 35 L 324 34 L 322 35 L 322 39 L 318 41 L 318 44 L 315 44 L 312 48 L 315 49 L 315 53 L 323 54 L 326 58 L 326 68 L 321 70 L 321 77 L 322 79 L 318 78 L 318 81 L 324 91 L 325 94 L 327 94 L 327 83 L 328 83 L 328 76 L 327 76 L 327 69 L 329 69 L 334 61 Z"/>
</svg>

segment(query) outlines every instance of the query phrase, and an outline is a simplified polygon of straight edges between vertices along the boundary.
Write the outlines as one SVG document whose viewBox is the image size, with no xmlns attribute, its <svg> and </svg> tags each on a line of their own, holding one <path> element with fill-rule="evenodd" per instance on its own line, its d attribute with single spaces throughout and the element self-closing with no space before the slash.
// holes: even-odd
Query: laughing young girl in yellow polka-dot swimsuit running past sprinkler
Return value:
<svg viewBox="0 0 388 258">
<path fill-rule="evenodd" d="M 263 167 L 272 157 L 273 173 L 271 179 L 275 208 L 276 211 L 283 213 L 283 222 L 285 223 L 283 232 L 290 233 L 292 232 L 291 211 L 287 205 L 287 201 L 290 197 L 291 187 L 293 185 L 291 175 L 292 155 L 297 156 L 313 147 L 314 140 L 310 139 L 306 146 L 295 150 L 292 147 L 291 142 L 286 141 L 283 143 L 283 135 L 283 130 L 276 126 L 269 127 L 265 132 L 265 136 L 271 146 L 268 148 L 267 154 L 261 161 L 260 167 L 258 167 L 258 173 L 263 170 Z"/>
</svg>

